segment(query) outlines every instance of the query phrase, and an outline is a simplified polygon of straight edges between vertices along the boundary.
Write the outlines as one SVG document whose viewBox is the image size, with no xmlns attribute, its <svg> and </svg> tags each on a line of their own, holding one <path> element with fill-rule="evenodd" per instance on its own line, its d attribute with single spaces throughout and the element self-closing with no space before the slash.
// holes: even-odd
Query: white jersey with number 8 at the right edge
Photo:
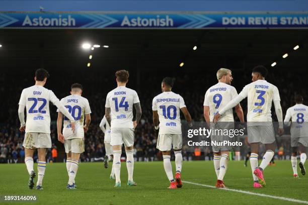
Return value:
<svg viewBox="0 0 308 205">
<path fill-rule="evenodd" d="M 291 137 L 308 137 L 308 106 L 296 104 L 286 112 L 284 122 L 292 121 Z"/>
</svg>

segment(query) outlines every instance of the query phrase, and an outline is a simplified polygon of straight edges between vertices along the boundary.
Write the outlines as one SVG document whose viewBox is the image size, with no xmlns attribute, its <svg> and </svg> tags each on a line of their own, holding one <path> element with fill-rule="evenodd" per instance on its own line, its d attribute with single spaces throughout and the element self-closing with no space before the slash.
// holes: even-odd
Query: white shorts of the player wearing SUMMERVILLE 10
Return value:
<svg viewBox="0 0 308 205">
<path fill-rule="evenodd" d="M 156 148 L 161 151 L 170 151 L 182 149 L 182 134 L 160 134 L 157 140 Z"/>
</svg>

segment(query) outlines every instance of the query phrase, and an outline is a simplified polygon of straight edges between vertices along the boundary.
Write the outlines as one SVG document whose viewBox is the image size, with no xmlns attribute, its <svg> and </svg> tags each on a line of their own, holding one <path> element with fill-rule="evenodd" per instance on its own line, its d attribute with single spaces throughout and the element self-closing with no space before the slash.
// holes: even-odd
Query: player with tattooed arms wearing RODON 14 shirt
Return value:
<svg viewBox="0 0 308 205">
<path fill-rule="evenodd" d="M 134 171 L 134 130 L 141 118 L 141 106 L 135 90 L 127 88 L 129 73 L 118 70 L 116 73 L 117 87 L 106 97 L 105 117 L 111 126 L 111 141 L 113 148 L 113 168 L 116 177 L 115 187 L 121 187 L 120 169 L 122 144 L 126 152 L 126 167 L 128 172 L 128 186 L 137 185 L 133 180 Z M 136 109 L 136 121 L 133 120 L 133 106 Z"/>
</svg>

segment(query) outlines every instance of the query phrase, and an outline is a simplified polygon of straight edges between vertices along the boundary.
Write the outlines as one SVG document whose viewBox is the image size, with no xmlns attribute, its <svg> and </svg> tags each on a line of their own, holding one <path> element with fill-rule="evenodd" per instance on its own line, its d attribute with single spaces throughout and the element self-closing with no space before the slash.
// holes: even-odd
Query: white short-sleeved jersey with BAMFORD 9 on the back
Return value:
<svg viewBox="0 0 308 205">
<path fill-rule="evenodd" d="M 210 121 L 219 109 L 224 108 L 229 101 L 238 96 L 237 89 L 234 86 L 223 82 L 211 86 L 205 93 L 203 106 L 208 106 L 210 110 Z M 229 109 L 220 118 L 219 122 L 234 122 L 233 111 Z"/>
</svg>

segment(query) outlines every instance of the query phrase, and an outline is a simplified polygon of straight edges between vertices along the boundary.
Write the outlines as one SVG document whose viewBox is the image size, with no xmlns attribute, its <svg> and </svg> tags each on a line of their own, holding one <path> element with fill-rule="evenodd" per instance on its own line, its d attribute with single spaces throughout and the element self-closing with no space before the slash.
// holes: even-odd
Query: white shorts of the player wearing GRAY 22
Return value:
<svg viewBox="0 0 308 205">
<path fill-rule="evenodd" d="M 26 149 L 51 148 L 49 133 L 26 133 L 23 143 Z"/>
</svg>

